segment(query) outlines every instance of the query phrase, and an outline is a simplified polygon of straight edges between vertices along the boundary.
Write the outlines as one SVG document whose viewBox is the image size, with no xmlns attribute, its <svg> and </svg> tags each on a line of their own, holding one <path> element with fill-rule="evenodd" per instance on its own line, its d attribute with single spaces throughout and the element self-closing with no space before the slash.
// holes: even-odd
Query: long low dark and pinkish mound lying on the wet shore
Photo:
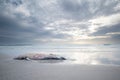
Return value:
<svg viewBox="0 0 120 80">
<path fill-rule="evenodd" d="M 66 58 L 55 54 L 29 54 L 18 56 L 15 60 L 66 60 Z"/>
</svg>

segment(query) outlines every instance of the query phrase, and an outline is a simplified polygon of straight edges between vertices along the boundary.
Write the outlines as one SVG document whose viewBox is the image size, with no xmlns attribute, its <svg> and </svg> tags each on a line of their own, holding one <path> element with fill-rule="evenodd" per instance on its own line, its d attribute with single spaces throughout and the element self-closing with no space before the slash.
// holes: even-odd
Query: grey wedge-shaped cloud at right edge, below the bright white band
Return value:
<svg viewBox="0 0 120 80">
<path fill-rule="evenodd" d="M 120 34 L 114 34 L 114 35 L 108 34 L 108 33 L 114 33 L 114 32 L 120 32 L 120 24 L 98 28 L 96 32 L 89 34 L 89 36 L 110 36 L 105 40 L 111 41 L 113 43 L 120 43 Z"/>
</svg>

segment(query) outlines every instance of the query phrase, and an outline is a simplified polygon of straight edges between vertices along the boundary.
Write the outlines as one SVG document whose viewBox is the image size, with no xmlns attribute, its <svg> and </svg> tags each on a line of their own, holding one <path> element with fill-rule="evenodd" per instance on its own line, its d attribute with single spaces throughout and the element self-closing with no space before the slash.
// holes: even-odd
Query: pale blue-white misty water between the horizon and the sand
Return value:
<svg viewBox="0 0 120 80">
<path fill-rule="evenodd" d="M 53 53 L 86 65 L 120 65 L 120 45 L 0 46 L 0 53 L 15 57 L 27 53 Z"/>
</svg>

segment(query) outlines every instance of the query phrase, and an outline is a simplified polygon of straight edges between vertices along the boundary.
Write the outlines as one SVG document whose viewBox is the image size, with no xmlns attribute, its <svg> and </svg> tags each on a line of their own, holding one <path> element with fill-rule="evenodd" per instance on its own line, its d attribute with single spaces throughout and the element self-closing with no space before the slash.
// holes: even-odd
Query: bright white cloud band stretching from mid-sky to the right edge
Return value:
<svg viewBox="0 0 120 80">
<path fill-rule="evenodd" d="M 109 35 L 102 36 L 89 36 L 90 34 L 97 32 L 101 27 L 110 27 L 116 25 L 120 21 L 120 14 L 114 14 L 110 16 L 100 16 L 88 21 L 75 21 L 60 19 L 55 22 L 49 23 L 46 29 L 52 30 L 54 33 L 68 34 L 71 36 L 70 40 L 82 40 L 82 39 L 105 39 L 109 38 Z"/>
</svg>

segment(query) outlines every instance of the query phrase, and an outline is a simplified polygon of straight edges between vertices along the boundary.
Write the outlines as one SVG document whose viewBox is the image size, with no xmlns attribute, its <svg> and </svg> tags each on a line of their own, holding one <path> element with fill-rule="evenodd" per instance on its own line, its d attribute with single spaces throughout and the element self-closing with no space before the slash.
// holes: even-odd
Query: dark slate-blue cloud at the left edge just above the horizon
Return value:
<svg viewBox="0 0 120 80">
<path fill-rule="evenodd" d="M 20 21 L 4 15 L 0 16 L 0 45 L 21 44 L 30 41 L 27 39 L 27 35 L 25 36 L 28 29 L 26 30 L 18 22 Z"/>
</svg>

